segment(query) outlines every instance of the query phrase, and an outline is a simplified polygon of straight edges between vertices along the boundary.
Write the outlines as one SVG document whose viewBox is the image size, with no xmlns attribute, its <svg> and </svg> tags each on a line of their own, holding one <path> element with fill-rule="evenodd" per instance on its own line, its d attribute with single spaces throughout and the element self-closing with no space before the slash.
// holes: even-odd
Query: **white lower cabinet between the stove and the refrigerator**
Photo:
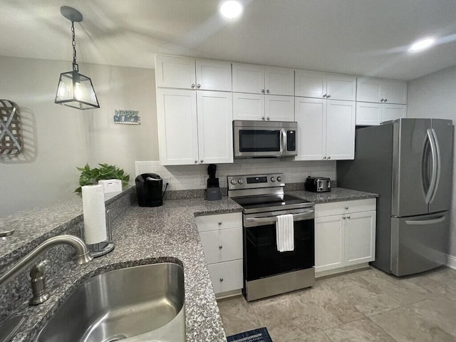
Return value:
<svg viewBox="0 0 456 342">
<path fill-rule="evenodd" d="M 317 276 L 375 260 L 375 209 L 375 199 L 316 204 Z"/>
</svg>

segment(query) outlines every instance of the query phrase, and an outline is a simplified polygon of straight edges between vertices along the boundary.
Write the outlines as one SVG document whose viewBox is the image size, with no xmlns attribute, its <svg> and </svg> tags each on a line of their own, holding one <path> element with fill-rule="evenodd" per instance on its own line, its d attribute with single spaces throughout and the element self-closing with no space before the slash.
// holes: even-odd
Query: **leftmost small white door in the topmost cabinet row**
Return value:
<svg viewBox="0 0 456 342">
<path fill-rule="evenodd" d="M 195 88 L 195 59 L 156 56 L 155 84 L 166 88 Z"/>
</svg>

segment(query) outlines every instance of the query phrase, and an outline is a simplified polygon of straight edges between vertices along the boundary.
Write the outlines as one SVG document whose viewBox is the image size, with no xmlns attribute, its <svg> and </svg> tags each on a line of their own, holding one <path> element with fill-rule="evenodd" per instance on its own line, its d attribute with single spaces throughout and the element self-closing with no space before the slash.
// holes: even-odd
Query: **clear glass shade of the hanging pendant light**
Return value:
<svg viewBox="0 0 456 342">
<path fill-rule="evenodd" d="M 55 103 L 81 110 L 100 108 L 92 81 L 78 71 L 60 74 Z"/>
</svg>

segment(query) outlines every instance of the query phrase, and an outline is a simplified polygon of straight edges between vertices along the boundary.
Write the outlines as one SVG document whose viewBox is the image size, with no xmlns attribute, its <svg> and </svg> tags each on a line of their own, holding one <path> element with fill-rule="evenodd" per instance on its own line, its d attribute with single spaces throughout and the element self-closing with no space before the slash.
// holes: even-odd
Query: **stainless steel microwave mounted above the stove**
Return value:
<svg viewBox="0 0 456 342">
<path fill-rule="evenodd" d="M 234 158 L 291 157 L 297 155 L 298 123 L 233 120 Z"/>
</svg>

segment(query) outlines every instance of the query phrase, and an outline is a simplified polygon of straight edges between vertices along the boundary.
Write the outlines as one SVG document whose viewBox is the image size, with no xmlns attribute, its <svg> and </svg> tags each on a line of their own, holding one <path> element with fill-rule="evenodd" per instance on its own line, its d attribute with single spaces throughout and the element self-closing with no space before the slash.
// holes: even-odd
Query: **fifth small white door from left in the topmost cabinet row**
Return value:
<svg viewBox="0 0 456 342">
<path fill-rule="evenodd" d="M 294 95 L 306 98 L 323 98 L 326 94 L 326 74 L 315 71 L 296 70 Z"/>
</svg>

